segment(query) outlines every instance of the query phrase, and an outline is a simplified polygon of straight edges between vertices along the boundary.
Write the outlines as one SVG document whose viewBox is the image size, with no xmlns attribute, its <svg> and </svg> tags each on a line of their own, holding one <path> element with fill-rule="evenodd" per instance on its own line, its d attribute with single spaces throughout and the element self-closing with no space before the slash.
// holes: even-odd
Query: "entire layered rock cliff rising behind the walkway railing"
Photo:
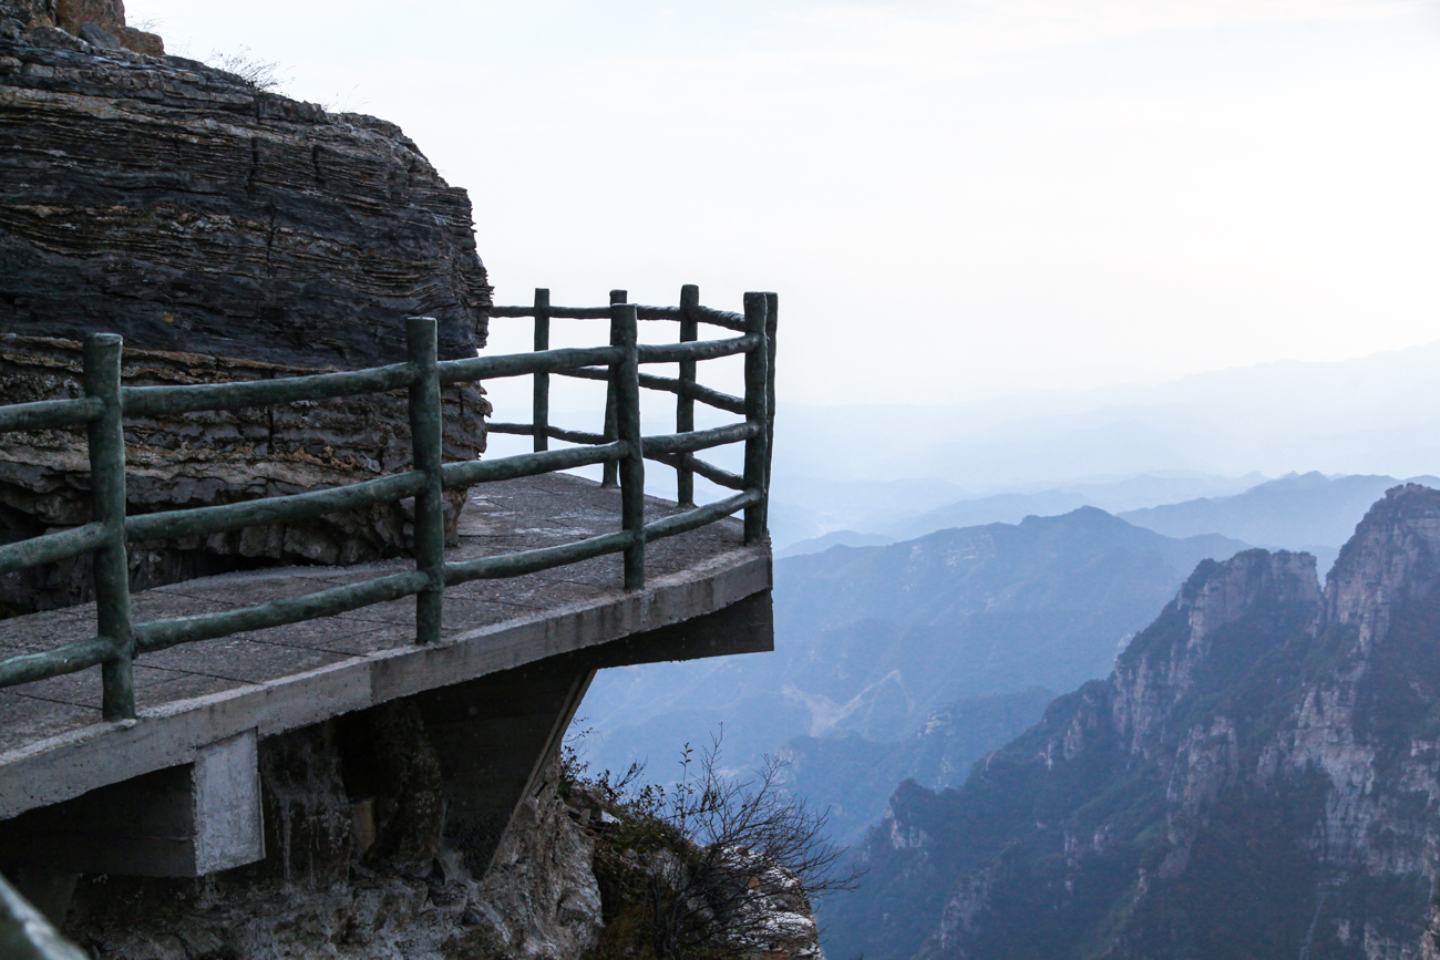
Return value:
<svg viewBox="0 0 1440 960">
<path fill-rule="evenodd" d="M 484 345 L 471 204 L 393 124 L 328 114 L 160 56 L 121 0 L 0 0 L 0 403 L 75 396 L 78 341 L 125 337 L 128 383 L 300 376 Z M 485 446 L 478 387 L 446 396 L 446 456 Z M 272 497 L 406 469 L 403 397 L 131 423 L 130 510 Z M 449 522 L 464 491 L 454 491 Z M 0 436 L 0 540 L 88 520 L 81 432 Z M 405 505 L 137 544 L 132 586 L 259 561 L 406 548 Z M 86 599 L 85 560 L 3 583 L 17 609 Z"/>
</svg>

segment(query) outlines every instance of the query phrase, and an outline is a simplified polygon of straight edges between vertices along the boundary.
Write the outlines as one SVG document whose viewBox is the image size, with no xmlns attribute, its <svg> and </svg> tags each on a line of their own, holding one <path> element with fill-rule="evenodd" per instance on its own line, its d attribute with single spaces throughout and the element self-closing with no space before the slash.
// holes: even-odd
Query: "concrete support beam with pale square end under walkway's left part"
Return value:
<svg viewBox="0 0 1440 960">
<path fill-rule="evenodd" d="M 0 822 L 0 868 L 203 877 L 265 856 L 258 743 L 246 730 L 156 770 Z"/>
</svg>

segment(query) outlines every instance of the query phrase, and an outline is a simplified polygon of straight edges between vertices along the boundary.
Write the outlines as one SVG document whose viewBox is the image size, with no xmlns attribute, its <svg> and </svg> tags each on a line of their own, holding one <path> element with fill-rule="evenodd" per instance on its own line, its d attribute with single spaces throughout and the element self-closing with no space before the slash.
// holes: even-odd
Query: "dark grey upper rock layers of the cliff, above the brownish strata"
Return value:
<svg viewBox="0 0 1440 960">
<path fill-rule="evenodd" d="M 397 361 L 419 314 L 484 344 L 469 200 L 397 127 L 3 17 L 36 26 L 0 33 L 0 328 L 292 367 Z"/>
</svg>

